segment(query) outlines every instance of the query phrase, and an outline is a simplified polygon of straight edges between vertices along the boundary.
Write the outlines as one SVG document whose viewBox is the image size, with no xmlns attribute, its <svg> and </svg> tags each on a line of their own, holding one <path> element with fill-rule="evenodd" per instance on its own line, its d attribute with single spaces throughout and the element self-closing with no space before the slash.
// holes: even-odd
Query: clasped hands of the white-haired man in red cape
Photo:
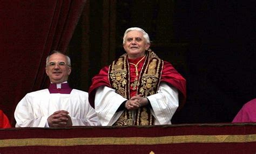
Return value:
<svg viewBox="0 0 256 154">
<path fill-rule="evenodd" d="M 149 102 L 142 94 L 131 97 L 130 100 L 127 100 L 125 103 L 125 108 L 128 110 L 136 110 L 139 107 L 146 106 Z"/>
</svg>

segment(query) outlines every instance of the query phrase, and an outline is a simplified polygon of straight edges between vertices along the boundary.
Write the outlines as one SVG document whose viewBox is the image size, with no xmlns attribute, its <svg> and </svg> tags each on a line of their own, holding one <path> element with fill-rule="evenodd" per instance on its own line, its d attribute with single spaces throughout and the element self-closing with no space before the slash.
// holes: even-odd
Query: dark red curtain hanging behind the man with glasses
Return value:
<svg viewBox="0 0 256 154">
<path fill-rule="evenodd" d="M 15 124 L 26 93 L 46 87 L 45 59 L 65 52 L 85 0 L 0 1 L 0 109 Z"/>
</svg>

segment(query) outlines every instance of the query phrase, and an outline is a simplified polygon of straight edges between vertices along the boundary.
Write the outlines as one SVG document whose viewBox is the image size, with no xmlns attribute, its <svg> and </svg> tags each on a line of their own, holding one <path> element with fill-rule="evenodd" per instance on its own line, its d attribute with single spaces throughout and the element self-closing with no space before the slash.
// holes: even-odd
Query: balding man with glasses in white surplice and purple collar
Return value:
<svg viewBox="0 0 256 154">
<path fill-rule="evenodd" d="M 15 110 L 16 127 L 70 127 L 97 125 L 97 115 L 88 101 L 88 93 L 71 89 L 70 58 L 54 51 L 46 58 L 48 89 L 25 95 Z"/>
</svg>

